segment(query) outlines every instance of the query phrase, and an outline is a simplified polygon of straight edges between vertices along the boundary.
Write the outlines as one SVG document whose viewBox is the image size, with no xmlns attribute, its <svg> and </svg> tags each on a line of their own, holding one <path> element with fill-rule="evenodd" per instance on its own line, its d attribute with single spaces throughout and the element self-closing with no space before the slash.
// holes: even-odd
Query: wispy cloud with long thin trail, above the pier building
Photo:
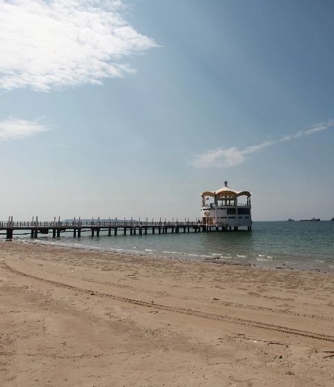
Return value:
<svg viewBox="0 0 334 387">
<path fill-rule="evenodd" d="M 334 119 L 328 120 L 325 123 L 313 125 L 310 129 L 300 130 L 294 134 L 287 134 L 278 140 L 265 141 L 258 145 L 251 145 L 244 150 L 239 150 L 236 147 L 232 148 L 217 148 L 209 150 L 202 155 L 193 157 L 189 164 L 196 168 L 228 168 L 244 163 L 249 155 L 260 152 L 262 149 L 269 148 L 279 143 L 292 141 L 303 136 L 310 136 L 311 134 L 321 132 L 334 126 Z"/>
</svg>

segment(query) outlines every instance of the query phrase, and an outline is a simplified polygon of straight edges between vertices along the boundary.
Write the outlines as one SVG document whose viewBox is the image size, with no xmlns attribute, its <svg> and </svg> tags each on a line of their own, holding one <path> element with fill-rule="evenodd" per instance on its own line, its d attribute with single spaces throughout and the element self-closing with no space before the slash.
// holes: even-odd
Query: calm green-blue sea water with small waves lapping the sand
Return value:
<svg viewBox="0 0 334 387">
<path fill-rule="evenodd" d="M 100 237 L 64 232 L 60 238 L 41 236 L 26 242 L 131 253 L 157 258 L 251 264 L 334 273 L 334 221 L 254 222 L 251 232 L 189 232 L 179 234 Z"/>
</svg>

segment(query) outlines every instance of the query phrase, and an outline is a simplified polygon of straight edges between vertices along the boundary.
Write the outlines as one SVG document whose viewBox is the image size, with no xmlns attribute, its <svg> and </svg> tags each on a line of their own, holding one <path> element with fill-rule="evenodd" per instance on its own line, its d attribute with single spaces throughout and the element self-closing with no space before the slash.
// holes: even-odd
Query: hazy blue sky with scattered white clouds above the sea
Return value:
<svg viewBox="0 0 334 387">
<path fill-rule="evenodd" d="M 334 216 L 332 0 L 0 0 L 0 220 Z"/>
</svg>

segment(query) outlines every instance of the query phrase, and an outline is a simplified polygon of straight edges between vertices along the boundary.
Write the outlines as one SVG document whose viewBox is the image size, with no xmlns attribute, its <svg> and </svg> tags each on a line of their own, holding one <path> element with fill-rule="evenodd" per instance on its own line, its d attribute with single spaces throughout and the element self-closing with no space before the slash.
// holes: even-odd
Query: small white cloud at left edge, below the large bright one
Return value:
<svg viewBox="0 0 334 387">
<path fill-rule="evenodd" d="M 42 118 L 33 121 L 8 118 L 8 120 L 0 121 L 0 140 L 24 139 L 40 132 L 47 132 L 49 127 L 42 125 L 41 120 Z"/>
</svg>

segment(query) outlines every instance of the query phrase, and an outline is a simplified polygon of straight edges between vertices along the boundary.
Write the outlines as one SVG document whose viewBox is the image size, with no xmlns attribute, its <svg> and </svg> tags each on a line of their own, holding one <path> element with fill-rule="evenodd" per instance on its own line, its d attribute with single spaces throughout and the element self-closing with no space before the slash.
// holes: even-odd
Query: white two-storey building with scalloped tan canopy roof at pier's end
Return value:
<svg viewBox="0 0 334 387">
<path fill-rule="evenodd" d="M 235 191 L 228 182 L 217 191 L 202 194 L 200 221 L 209 228 L 222 227 L 223 230 L 238 230 L 239 227 L 252 229 L 250 196 L 248 191 Z"/>
</svg>

